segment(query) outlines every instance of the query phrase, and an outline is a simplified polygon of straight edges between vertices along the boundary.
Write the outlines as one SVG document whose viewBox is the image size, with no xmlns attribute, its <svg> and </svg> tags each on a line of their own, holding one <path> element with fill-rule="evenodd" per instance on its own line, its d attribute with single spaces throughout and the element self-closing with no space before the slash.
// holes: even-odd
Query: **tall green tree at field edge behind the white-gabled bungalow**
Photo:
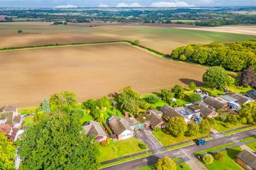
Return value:
<svg viewBox="0 0 256 170">
<path fill-rule="evenodd" d="M 132 88 L 125 87 L 121 90 L 121 94 L 118 95 L 117 101 L 119 103 L 120 108 L 123 111 L 127 111 L 130 114 L 137 113 L 139 106 L 138 102 L 140 100 L 140 94 L 132 90 Z"/>
</svg>

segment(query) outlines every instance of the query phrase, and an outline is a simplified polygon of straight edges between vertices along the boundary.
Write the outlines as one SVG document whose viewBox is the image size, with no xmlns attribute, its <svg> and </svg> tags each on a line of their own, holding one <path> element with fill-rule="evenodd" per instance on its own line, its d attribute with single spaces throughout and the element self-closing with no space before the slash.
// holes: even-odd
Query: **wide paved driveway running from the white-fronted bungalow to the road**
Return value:
<svg viewBox="0 0 256 170">
<path fill-rule="evenodd" d="M 135 138 L 145 143 L 151 150 L 162 148 L 162 145 L 155 139 L 153 134 L 150 133 L 149 129 L 137 130 L 135 134 Z"/>
</svg>

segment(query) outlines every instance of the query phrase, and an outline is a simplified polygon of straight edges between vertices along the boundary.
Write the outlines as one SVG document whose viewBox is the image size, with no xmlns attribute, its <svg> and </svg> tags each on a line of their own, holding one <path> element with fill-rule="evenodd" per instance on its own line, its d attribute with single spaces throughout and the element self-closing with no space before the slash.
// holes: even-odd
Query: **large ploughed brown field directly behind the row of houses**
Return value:
<svg viewBox="0 0 256 170">
<path fill-rule="evenodd" d="M 88 45 L 0 53 L 0 104 L 36 106 L 60 90 L 78 101 L 132 86 L 141 94 L 201 84 L 205 68 L 157 57 L 125 44 Z M 193 79 L 193 80 L 191 80 Z"/>
</svg>

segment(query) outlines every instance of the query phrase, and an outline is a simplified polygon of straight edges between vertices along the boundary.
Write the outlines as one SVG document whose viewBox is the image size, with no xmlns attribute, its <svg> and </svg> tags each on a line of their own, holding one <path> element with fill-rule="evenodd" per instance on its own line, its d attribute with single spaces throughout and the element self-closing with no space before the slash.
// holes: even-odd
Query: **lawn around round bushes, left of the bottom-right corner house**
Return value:
<svg viewBox="0 0 256 170">
<path fill-rule="evenodd" d="M 232 149 L 223 150 L 220 153 L 224 156 L 224 161 L 220 162 L 214 160 L 212 164 L 204 166 L 209 170 L 218 170 L 218 169 L 226 169 L 226 170 L 242 170 L 243 168 L 240 167 L 234 160 L 236 159 L 236 155 L 241 152 L 241 147 L 236 147 Z"/>
</svg>

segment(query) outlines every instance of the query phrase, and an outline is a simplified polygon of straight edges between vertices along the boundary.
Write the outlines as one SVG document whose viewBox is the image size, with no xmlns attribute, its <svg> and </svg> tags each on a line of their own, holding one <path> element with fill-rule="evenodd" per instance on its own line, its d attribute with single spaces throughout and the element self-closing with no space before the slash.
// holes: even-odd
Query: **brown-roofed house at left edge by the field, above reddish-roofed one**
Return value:
<svg viewBox="0 0 256 170">
<path fill-rule="evenodd" d="M 17 107 L 6 105 L 0 108 L 0 124 L 13 124 L 14 128 L 20 128 L 22 117 L 19 116 Z"/>
</svg>

